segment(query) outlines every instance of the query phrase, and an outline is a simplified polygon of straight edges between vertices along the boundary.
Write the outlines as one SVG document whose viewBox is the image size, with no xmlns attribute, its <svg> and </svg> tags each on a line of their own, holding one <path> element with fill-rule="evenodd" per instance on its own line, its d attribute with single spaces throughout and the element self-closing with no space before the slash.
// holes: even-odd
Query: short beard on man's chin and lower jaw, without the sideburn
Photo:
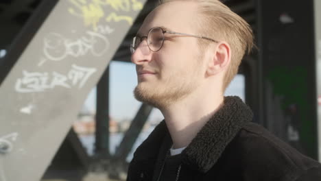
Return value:
<svg viewBox="0 0 321 181">
<path fill-rule="evenodd" d="M 145 104 L 163 109 L 190 95 L 197 87 L 197 83 L 186 79 L 176 79 L 178 76 L 169 76 L 166 81 L 154 84 L 141 82 L 134 89 L 134 97 Z M 191 76 L 190 78 L 192 78 Z"/>
</svg>

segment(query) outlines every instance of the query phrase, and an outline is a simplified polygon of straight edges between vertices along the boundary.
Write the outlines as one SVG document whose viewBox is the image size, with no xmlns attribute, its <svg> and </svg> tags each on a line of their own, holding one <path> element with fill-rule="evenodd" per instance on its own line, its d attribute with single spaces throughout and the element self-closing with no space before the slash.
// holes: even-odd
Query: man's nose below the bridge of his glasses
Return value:
<svg viewBox="0 0 321 181">
<path fill-rule="evenodd" d="M 134 64 L 143 64 L 150 62 L 151 59 L 152 53 L 147 45 L 147 40 L 143 40 L 136 48 L 134 53 L 132 53 L 131 60 Z"/>
</svg>

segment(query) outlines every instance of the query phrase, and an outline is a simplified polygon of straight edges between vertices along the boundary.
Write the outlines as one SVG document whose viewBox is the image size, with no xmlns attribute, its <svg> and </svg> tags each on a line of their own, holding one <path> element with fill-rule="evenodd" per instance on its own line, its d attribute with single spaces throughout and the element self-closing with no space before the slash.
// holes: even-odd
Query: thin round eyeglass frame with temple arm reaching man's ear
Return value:
<svg viewBox="0 0 321 181">
<path fill-rule="evenodd" d="M 131 52 L 131 53 L 134 53 L 134 52 L 136 51 L 137 47 L 138 47 L 138 45 L 137 45 L 136 49 L 135 49 L 135 47 L 134 47 L 136 38 L 140 38 L 140 39 L 141 39 L 141 42 L 140 42 L 140 43 L 143 42 L 143 38 L 146 38 L 147 47 L 148 47 L 148 49 L 150 49 L 150 51 L 153 51 L 153 52 L 160 51 L 160 49 L 162 49 L 162 47 L 163 47 L 163 45 L 164 45 L 165 36 L 163 36 L 162 45 L 161 45 L 160 48 L 159 48 L 158 50 L 156 50 L 156 51 L 152 50 L 152 49 L 150 48 L 150 45 L 148 44 L 148 36 L 150 35 L 150 32 L 152 32 L 152 30 L 153 30 L 153 29 L 156 29 L 156 28 L 161 29 L 162 32 L 163 32 L 163 35 L 165 35 L 165 33 L 168 33 L 168 34 L 176 34 L 176 35 L 181 35 L 181 36 L 189 36 L 189 37 L 194 37 L 194 38 L 201 38 L 201 39 L 213 41 L 213 42 L 215 42 L 215 43 L 219 43 L 219 41 L 214 40 L 213 38 L 206 37 L 206 36 L 198 36 L 198 35 L 193 35 L 193 34 L 185 34 L 185 33 L 173 32 L 173 31 L 169 31 L 169 30 L 164 30 L 164 29 L 166 29 L 165 27 L 152 27 L 150 30 L 148 30 L 147 36 L 139 36 L 138 34 L 137 34 L 136 36 L 134 36 L 134 38 L 133 38 L 133 40 L 132 40 L 132 44 L 130 45 L 130 52 Z M 139 43 L 139 44 L 140 44 L 140 43 Z"/>
</svg>

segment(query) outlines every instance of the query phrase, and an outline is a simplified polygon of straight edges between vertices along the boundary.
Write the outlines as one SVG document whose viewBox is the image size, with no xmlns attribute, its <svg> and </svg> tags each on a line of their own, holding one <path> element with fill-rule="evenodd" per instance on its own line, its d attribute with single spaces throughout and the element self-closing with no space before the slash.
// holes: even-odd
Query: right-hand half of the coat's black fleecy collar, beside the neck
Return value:
<svg viewBox="0 0 321 181">
<path fill-rule="evenodd" d="M 183 162 L 203 173 L 209 171 L 243 124 L 252 121 L 252 117 L 252 111 L 239 97 L 224 97 L 224 106 L 182 152 Z"/>
</svg>

